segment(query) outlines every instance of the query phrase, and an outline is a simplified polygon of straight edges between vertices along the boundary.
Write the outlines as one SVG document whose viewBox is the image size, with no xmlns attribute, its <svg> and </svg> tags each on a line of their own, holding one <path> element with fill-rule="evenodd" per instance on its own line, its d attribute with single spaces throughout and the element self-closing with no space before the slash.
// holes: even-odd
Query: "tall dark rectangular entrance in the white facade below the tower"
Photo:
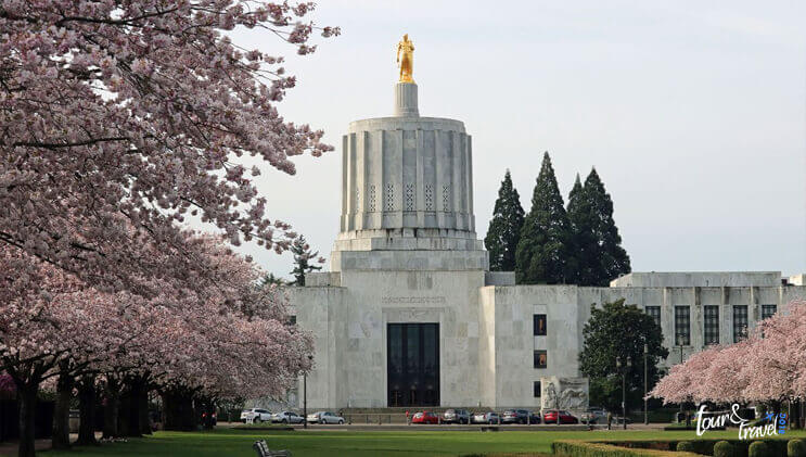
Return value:
<svg viewBox="0 0 806 457">
<path fill-rule="evenodd" d="M 388 406 L 439 406 L 439 325 L 388 323 Z"/>
</svg>

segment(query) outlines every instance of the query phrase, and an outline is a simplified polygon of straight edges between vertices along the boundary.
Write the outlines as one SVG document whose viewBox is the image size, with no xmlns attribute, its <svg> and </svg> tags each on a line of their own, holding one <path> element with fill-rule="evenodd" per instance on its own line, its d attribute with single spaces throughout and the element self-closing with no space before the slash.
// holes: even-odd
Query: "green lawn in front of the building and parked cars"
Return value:
<svg viewBox="0 0 806 457">
<path fill-rule="evenodd" d="M 785 437 L 806 436 L 803 431 Z M 707 432 L 703 437 L 737 437 L 735 430 Z M 294 457 L 318 456 L 458 456 L 463 454 L 551 453 L 554 440 L 680 440 L 695 433 L 661 431 L 252 431 L 218 429 L 209 432 L 157 432 L 127 443 L 76 447 L 71 452 L 42 452 L 46 457 L 152 456 L 152 457 L 254 457 L 252 443 L 266 440 L 269 446 L 290 449 Z"/>
</svg>

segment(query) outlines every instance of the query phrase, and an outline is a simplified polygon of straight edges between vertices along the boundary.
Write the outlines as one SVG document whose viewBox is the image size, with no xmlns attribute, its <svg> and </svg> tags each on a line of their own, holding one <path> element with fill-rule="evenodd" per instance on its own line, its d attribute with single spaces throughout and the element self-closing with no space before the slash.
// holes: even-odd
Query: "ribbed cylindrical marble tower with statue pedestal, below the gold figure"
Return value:
<svg viewBox="0 0 806 457">
<path fill-rule="evenodd" d="M 417 85 L 395 85 L 395 116 L 350 123 L 342 147 L 336 251 L 482 250 L 464 124 L 420 117 Z"/>
</svg>

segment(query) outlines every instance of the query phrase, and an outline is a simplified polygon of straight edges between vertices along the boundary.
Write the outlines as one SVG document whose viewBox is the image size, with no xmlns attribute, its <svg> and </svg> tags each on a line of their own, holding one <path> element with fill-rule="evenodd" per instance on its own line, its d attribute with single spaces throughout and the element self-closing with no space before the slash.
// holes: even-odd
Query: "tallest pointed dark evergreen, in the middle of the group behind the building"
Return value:
<svg viewBox="0 0 806 457">
<path fill-rule="evenodd" d="M 532 210 L 524 219 L 515 252 L 517 282 L 568 282 L 568 217 L 556 186 L 551 158 L 546 152 L 532 195 Z"/>
</svg>

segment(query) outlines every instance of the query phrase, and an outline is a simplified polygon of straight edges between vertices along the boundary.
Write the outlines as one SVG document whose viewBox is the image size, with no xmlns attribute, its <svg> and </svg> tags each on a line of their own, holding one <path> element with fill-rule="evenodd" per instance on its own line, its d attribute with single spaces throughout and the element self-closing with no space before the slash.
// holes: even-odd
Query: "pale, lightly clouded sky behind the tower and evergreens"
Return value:
<svg viewBox="0 0 806 457">
<path fill-rule="evenodd" d="M 336 150 L 268 166 L 258 190 L 330 257 L 341 211 L 341 136 L 387 116 L 395 46 L 414 42 L 420 114 L 473 137 L 483 239 L 504 170 L 528 212 L 543 151 L 563 196 L 596 167 L 635 271 L 806 272 L 806 2 L 321 0 L 316 53 L 267 31 L 238 45 L 285 55 L 286 119 Z M 290 277 L 291 254 L 244 245 Z"/>
</svg>

